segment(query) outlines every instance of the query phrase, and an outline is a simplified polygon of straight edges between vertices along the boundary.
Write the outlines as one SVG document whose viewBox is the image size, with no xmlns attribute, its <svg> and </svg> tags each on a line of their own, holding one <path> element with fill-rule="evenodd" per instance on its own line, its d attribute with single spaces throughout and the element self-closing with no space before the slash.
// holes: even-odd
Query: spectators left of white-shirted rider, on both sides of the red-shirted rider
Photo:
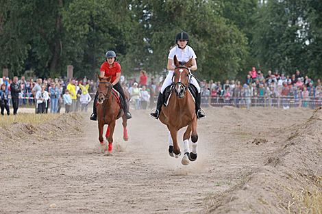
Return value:
<svg viewBox="0 0 322 214">
<path fill-rule="evenodd" d="M 131 98 L 134 109 L 149 109 L 154 105 L 156 85 L 153 79 L 147 84 L 145 70 L 141 70 L 141 74 L 138 82 L 133 78 L 125 83 L 123 78 L 121 85 Z M 60 113 L 62 106 L 65 112 L 87 111 L 87 103 L 94 97 L 98 85 L 98 81 L 86 77 L 79 81 L 69 79 L 66 82 L 58 78 L 26 80 L 25 77 L 21 79 L 14 77 L 11 80 L 3 77 L 2 82 L 0 90 L 2 115 L 5 109 L 10 115 L 10 105 L 14 109 L 14 114 L 18 107 L 23 105 L 34 105 L 35 113 Z"/>
</svg>

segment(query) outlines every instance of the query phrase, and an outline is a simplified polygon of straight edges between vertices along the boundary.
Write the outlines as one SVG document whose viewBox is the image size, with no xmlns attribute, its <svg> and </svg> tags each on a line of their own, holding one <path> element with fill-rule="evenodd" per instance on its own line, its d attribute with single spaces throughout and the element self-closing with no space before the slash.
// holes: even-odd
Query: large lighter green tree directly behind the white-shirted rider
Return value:
<svg viewBox="0 0 322 214">
<path fill-rule="evenodd" d="M 136 2 L 136 44 L 131 55 L 149 72 L 166 68 L 169 49 L 179 31 L 190 35 L 189 45 L 197 54 L 199 78 L 233 78 L 247 56 L 245 36 L 220 16 L 221 2 L 144 1 Z"/>
</svg>

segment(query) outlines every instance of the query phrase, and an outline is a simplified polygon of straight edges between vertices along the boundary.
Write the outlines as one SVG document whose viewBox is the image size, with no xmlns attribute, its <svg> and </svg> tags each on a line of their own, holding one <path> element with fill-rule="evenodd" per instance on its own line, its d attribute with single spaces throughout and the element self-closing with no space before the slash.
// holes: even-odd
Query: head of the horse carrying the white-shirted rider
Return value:
<svg viewBox="0 0 322 214">
<path fill-rule="evenodd" d="M 184 66 L 181 66 L 177 61 L 177 56 L 173 57 L 173 63 L 175 64 L 175 72 L 173 72 L 173 82 L 175 83 L 175 95 L 179 98 L 184 98 L 184 94 L 189 84 L 189 67 L 191 66 L 191 58 Z"/>
</svg>

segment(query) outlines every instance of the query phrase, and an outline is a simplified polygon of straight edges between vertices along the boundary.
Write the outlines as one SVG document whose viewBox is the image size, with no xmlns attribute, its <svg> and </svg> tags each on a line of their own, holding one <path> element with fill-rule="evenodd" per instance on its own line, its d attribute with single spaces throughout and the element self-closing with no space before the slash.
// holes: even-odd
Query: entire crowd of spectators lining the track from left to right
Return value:
<svg viewBox="0 0 322 214">
<path fill-rule="evenodd" d="M 125 81 L 121 79 L 122 88 L 129 98 L 133 109 L 153 109 L 156 105 L 156 94 L 162 87 L 162 82 L 156 84 L 154 79 L 147 81 L 145 70 L 140 71 L 139 81 L 136 78 Z M 88 85 L 87 88 L 83 87 Z M 16 114 L 22 105 L 34 105 L 35 113 L 60 113 L 64 106 L 65 112 L 87 111 L 89 103 L 97 90 L 98 81 L 86 79 L 77 81 L 69 79 L 26 80 L 25 77 L 14 77 L 12 80 L 3 77 L 0 90 L 1 114 L 10 114 L 9 105 Z M 80 88 L 79 86 L 82 86 Z M 284 107 L 301 105 L 311 107 L 322 105 L 321 81 L 314 83 L 308 76 L 303 77 L 299 70 L 289 76 L 269 70 L 264 75 L 260 70 L 252 68 L 243 81 L 226 80 L 209 82 L 204 79 L 201 84 L 202 107 L 234 105 L 236 107 L 277 106 Z M 83 89 L 83 90 L 82 90 Z M 84 93 L 82 93 L 84 92 Z M 87 92 L 90 94 L 88 95 Z M 49 108 L 50 107 L 50 108 Z M 49 110 L 48 110 L 49 109 Z"/>
</svg>

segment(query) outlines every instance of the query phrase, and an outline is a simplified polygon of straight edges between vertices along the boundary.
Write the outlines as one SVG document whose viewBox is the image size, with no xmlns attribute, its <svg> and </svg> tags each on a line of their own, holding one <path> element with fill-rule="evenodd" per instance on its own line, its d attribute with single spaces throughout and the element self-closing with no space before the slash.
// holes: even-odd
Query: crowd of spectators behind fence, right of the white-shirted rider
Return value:
<svg viewBox="0 0 322 214">
<path fill-rule="evenodd" d="M 210 90 L 210 94 L 209 94 Z M 234 105 L 236 107 L 277 106 L 280 101 L 281 106 L 311 107 L 322 105 L 321 81 L 314 81 L 308 76 L 303 77 L 299 70 L 289 76 L 271 70 L 267 75 L 256 68 L 252 68 L 245 78 L 245 81 L 226 80 L 223 85 L 220 81 L 210 80 L 201 83 L 202 105 L 207 107 Z"/>
</svg>

